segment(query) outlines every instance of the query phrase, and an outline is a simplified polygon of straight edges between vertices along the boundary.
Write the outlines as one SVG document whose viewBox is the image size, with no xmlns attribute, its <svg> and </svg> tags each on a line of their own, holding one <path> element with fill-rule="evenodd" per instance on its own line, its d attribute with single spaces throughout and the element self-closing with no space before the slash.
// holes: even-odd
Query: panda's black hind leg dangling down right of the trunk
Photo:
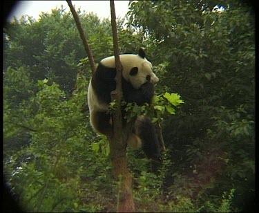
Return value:
<svg viewBox="0 0 259 213">
<path fill-rule="evenodd" d="M 135 133 L 142 140 L 142 149 L 148 158 L 161 160 L 160 142 L 157 139 L 155 126 L 145 116 L 140 116 L 135 121 Z"/>
</svg>

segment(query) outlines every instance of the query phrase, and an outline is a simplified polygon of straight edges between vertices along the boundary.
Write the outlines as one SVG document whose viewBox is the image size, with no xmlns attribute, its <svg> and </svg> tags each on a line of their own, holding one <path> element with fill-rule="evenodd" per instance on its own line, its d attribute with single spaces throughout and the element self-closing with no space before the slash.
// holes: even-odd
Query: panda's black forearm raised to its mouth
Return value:
<svg viewBox="0 0 259 213">
<path fill-rule="evenodd" d="M 135 102 L 138 105 L 144 103 L 151 103 L 154 95 L 154 85 L 151 82 L 146 82 L 140 89 L 133 89 L 124 91 L 124 98 L 126 102 Z"/>
</svg>

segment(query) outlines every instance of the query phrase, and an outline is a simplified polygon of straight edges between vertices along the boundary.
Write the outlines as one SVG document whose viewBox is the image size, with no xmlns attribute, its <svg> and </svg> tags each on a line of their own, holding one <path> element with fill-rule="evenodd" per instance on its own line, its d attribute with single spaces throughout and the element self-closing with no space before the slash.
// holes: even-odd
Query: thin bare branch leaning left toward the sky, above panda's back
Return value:
<svg viewBox="0 0 259 213">
<path fill-rule="evenodd" d="M 79 31 L 81 40 L 83 41 L 84 49 L 86 50 L 86 55 L 88 56 L 88 59 L 89 59 L 89 62 L 90 62 L 90 67 L 91 67 L 91 70 L 92 70 L 92 75 L 93 75 L 93 73 L 95 72 L 95 61 L 93 59 L 92 52 L 91 52 L 90 47 L 88 45 L 88 41 L 86 39 L 86 34 L 84 33 L 84 29 L 81 26 L 81 22 L 79 21 L 79 16 L 77 15 L 77 12 L 75 11 L 75 8 L 73 7 L 72 2 L 71 1 L 66 1 L 66 2 L 68 3 L 68 6 L 69 6 L 69 8 L 72 12 L 72 15 L 73 15 L 74 19 L 75 19 L 75 24 L 77 24 L 77 29 Z"/>
</svg>

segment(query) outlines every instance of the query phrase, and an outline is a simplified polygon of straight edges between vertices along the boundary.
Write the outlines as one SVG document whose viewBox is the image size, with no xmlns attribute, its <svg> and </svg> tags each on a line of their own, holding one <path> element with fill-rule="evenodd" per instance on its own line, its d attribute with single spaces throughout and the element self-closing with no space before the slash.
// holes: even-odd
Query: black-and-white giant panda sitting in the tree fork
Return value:
<svg viewBox="0 0 259 213">
<path fill-rule="evenodd" d="M 126 102 L 138 105 L 151 103 L 154 95 L 154 85 L 158 78 L 153 73 L 153 66 L 146 57 L 144 50 L 139 53 L 119 55 L 122 64 L 122 92 Z M 106 57 L 99 62 L 88 86 L 88 107 L 90 124 L 93 129 L 106 136 L 112 136 L 113 126 L 108 106 L 111 102 L 111 91 L 116 89 L 115 57 Z M 128 136 L 127 144 L 131 147 L 142 147 L 148 158 L 161 160 L 160 143 L 155 127 L 151 120 L 139 116 L 135 120 L 132 133 Z"/>
</svg>

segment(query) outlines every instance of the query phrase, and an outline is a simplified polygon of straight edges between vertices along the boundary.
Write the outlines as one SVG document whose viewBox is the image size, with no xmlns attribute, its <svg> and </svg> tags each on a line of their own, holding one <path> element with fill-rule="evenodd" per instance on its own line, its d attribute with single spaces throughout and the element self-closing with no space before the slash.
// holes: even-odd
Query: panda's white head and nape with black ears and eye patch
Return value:
<svg viewBox="0 0 259 213">
<path fill-rule="evenodd" d="M 140 86 L 146 82 L 157 84 L 158 77 L 153 73 L 153 66 L 148 62 L 141 48 L 137 55 L 119 55 L 119 60 L 123 67 L 122 76 L 127 82 L 131 82 L 134 89 L 140 89 Z M 114 56 L 103 59 L 102 64 L 115 68 Z"/>
</svg>

